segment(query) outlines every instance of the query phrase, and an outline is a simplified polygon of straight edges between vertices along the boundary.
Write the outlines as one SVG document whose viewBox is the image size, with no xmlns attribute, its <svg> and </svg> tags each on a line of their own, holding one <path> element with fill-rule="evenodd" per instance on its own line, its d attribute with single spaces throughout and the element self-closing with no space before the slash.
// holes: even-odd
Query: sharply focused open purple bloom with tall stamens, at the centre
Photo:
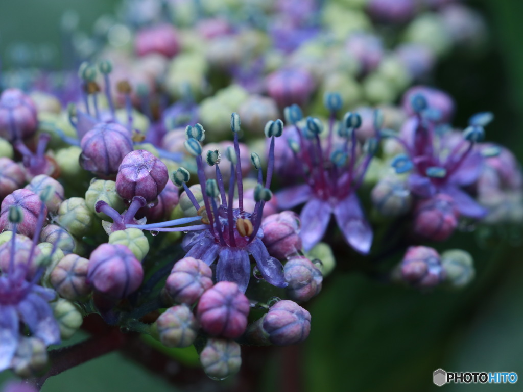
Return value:
<svg viewBox="0 0 523 392">
<path fill-rule="evenodd" d="M 231 165 L 231 178 L 227 192 L 220 171 L 221 155 L 218 150 L 208 151 L 206 159 L 207 163 L 214 166 L 217 180 L 206 179 L 200 146 L 200 141 L 204 138 L 203 128 L 199 124 L 195 127 L 188 127 L 186 148 L 196 157 L 203 206 L 200 206 L 196 197 L 186 185 L 186 182 L 189 181 L 189 172 L 185 169 L 178 169 L 173 176 L 176 185 L 184 186 L 186 194 L 204 224 L 175 229 L 165 229 L 164 227 L 168 222 L 132 225 L 132 227 L 158 231 L 195 231 L 192 236 L 186 237 L 184 241 L 184 249 L 187 251 L 185 257 L 200 259 L 208 265 L 218 259 L 217 281 L 235 282 L 242 292 L 247 289 L 251 277 L 249 256 L 253 256 L 260 274 L 267 282 L 276 287 L 286 287 L 287 282 L 283 276 L 283 267 L 278 259 L 269 255 L 266 246 L 261 241 L 263 230 L 260 229 L 264 205 L 271 197 L 268 188 L 274 168 L 274 138 L 281 135 L 282 128 L 283 123 L 280 120 L 269 122 L 266 127 L 266 135 L 271 138 L 272 142 L 265 184 L 263 183 L 259 157 L 253 155 L 252 162 L 258 170 L 254 211 L 247 212 L 244 210 L 240 145 L 238 144 L 237 134 L 240 130 L 240 117 L 233 113 L 231 129 L 234 132 L 234 147 L 227 150 L 227 157 Z M 233 206 L 235 188 L 238 192 L 238 208 Z M 220 205 L 217 203 L 218 197 L 221 200 Z"/>
</svg>

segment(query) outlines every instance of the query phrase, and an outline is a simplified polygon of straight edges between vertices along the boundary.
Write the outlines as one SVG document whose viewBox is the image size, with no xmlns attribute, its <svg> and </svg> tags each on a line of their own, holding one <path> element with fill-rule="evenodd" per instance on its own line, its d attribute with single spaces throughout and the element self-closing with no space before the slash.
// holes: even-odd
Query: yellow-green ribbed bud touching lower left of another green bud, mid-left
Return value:
<svg viewBox="0 0 523 392">
<path fill-rule="evenodd" d="M 82 197 L 65 199 L 58 209 L 59 224 L 75 237 L 84 236 L 91 228 L 93 214 Z"/>
</svg>

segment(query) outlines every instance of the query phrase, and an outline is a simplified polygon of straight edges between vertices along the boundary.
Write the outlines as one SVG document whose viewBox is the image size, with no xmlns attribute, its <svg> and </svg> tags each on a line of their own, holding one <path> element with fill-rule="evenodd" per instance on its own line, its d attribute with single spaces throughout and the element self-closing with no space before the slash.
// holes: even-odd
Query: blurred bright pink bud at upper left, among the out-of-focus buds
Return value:
<svg viewBox="0 0 523 392">
<path fill-rule="evenodd" d="M 134 40 L 134 50 L 140 57 L 150 53 L 173 57 L 180 50 L 178 32 L 168 23 L 141 29 Z"/>
</svg>

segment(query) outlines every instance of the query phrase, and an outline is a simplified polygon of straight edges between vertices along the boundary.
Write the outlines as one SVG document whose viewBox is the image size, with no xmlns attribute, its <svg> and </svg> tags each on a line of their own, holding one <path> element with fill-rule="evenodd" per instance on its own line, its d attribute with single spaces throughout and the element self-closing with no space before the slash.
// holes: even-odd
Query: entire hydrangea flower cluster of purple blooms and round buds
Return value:
<svg viewBox="0 0 523 392">
<path fill-rule="evenodd" d="M 48 348 L 84 328 L 85 360 L 89 342 L 149 335 L 193 346 L 221 380 L 242 346 L 309 336 L 335 258 L 386 254 L 391 283 L 457 289 L 472 257 L 431 246 L 471 221 L 521 225 L 519 164 L 483 141 L 493 114 L 453 128 L 448 94 L 408 89 L 452 45 L 481 45 L 466 6 L 128 0 L 119 14 L 67 43 L 77 73 L 2 75 L 0 371 L 40 387 Z M 77 347 L 49 350 L 55 371 Z"/>
</svg>

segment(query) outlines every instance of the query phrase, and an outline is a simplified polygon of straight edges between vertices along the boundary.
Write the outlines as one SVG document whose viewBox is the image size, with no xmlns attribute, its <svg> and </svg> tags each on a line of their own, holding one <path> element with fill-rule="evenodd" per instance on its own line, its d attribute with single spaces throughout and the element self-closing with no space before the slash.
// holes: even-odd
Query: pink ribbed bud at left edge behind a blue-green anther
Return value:
<svg viewBox="0 0 523 392">
<path fill-rule="evenodd" d="M 17 189 L 7 195 L 0 206 L 0 231 L 13 230 L 13 224 L 9 222 L 9 208 L 14 206 L 20 207 L 24 214 L 24 220 L 16 226 L 18 233 L 32 237 L 42 206 L 40 197 L 29 189 Z M 47 216 L 47 207 L 44 207 L 43 214 Z"/>
</svg>

